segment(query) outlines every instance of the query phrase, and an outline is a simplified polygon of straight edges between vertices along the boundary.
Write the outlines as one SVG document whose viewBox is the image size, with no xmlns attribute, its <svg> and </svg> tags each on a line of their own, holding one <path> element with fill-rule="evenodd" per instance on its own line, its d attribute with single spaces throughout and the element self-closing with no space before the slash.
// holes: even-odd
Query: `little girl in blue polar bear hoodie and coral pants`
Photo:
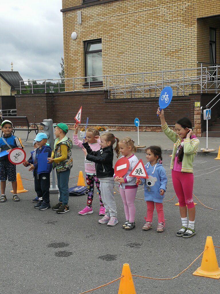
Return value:
<svg viewBox="0 0 220 294">
<path fill-rule="evenodd" d="M 144 184 L 144 200 L 147 203 L 147 217 L 143 230 L 152 229 L 154 203 L 158 214 L 157 232 L 163 232 L 165 227 L 165 219 L 163 212 L 163 198 L 166 192 L 167 176 L 162 166 L 161 148 L 158 146 L 150 146 L 145 149 L 148 163 L 144 166 L 148 179 L 141 178 L 138 183 Z M 158 162 L 158 159 L 160 161 Z M 137 180 L 136 180 L 137 183 Z"/>
</svg>

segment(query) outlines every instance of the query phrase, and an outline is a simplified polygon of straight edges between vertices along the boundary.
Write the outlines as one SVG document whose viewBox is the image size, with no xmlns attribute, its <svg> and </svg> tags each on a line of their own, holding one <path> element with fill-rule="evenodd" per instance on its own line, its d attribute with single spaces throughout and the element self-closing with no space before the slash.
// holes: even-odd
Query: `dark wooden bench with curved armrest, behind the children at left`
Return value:
<svg viewBox="0 0 220 294">
<path fill-rule="evenodd" d="M 27 116 L 2 116 L 1 120 L 9 120 L 13 124 L 13 131 L 14 134 L 15 131 L 27 131 L 28 135 L 31 133 L 31 131 L 35 131 L 35 134 L 38 134 L 38 126 L 35 123 L 29 123 Z M 15 128 L 14 126 L 24 126 L 25 128 Z M 2 134 L 1 134 L 2 135 Z M 28 135 L 27 139 L 28 140 Z M 26 142 L 25 141 L 25 142 Z"/>
</svg>

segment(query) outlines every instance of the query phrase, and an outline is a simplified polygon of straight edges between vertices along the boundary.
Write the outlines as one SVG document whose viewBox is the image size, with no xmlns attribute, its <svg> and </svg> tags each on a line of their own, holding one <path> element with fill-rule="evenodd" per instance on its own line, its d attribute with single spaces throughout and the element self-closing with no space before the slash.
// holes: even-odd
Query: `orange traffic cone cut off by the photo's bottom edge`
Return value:
<svg viewBox="0 0 220 294">
<path fill-rule="evenodd" d="M 128 263 L 123 264 L 118 294 L 136 294 L 134 283 L 131 275 L 131 270 Z"/>
</svg>

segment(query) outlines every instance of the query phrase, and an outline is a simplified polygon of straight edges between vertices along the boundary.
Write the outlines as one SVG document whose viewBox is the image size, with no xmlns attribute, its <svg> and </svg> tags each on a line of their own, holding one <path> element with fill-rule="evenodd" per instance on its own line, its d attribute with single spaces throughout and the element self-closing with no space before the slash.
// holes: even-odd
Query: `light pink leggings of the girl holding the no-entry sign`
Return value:
<svg viewBox="0 0 220 294">
<path fill-rule="evenodd" d="M 125 218 L 126 220 L 129 220 L 129 222 L 131 223 L 134 222 L 134 218 L 135 218 L 136 208 L 134 205 L 134 201 L 135 201 L 137 190 L 138 190 L 138 187 L 133 189 L 122 189 L 119 187 L 121 198 L 124 203 Z"/>
</svg>

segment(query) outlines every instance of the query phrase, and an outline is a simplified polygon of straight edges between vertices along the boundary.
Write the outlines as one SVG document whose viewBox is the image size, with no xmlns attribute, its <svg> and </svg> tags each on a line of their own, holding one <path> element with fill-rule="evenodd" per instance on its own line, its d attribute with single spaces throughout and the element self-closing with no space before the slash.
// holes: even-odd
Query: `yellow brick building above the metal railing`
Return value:
<svg viewBox="0 0 220 294">
<path fill-rule="evenodd" d="M 61 11 L 65 78 L 220 63 L 219 0 L 62 0 Z"/>
</svg>

